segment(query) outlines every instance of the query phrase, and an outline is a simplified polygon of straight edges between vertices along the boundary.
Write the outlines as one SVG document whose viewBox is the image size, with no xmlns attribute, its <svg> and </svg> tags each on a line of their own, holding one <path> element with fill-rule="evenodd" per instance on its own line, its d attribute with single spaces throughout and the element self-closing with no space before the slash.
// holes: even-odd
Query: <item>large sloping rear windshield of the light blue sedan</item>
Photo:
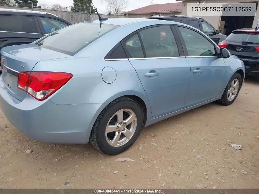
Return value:
<svg viewBox="0 0 259 194">
<path fill-rule="evenodd" d="M 82 22 L 51 33 L 34 44 L 73 56 L 94 40 L 118 27 L 118 25 L 100 26 L 100 23 Z"/>
</svg>

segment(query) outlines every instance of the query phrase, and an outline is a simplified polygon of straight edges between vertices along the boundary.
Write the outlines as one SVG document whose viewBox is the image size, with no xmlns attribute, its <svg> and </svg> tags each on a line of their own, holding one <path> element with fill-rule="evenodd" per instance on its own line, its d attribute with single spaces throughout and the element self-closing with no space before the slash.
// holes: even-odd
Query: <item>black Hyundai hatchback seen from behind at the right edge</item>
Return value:
<svg viewBox="0 0 259 194">
<path fill-rule="evenodd" d="M 246 74 L 259 77 L 259 30 L 245 28 L 232 31 L 219 47 L 227 48 L 232 55 L 242 60 Z"/>
</svg>

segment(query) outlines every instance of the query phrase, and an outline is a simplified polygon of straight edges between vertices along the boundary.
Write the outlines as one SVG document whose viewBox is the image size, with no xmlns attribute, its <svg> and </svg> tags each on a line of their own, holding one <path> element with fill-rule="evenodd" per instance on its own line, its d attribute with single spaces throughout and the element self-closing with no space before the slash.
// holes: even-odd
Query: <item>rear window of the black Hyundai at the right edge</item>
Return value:
<svg viewBox="0 0 259 194">
<path fill-rule="evenodd" d="M 259 44 L 258 32 L 232 32 L 227 38 L 229 42 L 251 42 L 251 44 Z"/>
</svg>

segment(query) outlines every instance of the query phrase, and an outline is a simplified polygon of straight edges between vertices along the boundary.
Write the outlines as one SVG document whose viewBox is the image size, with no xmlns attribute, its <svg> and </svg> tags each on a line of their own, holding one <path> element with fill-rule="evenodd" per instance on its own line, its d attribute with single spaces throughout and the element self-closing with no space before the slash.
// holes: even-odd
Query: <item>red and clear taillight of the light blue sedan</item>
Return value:
<svg viewBox="0 0 259 194">
<path fill-rule="evenodd" d="M 66 84 L 72 76 L 62 72 L 19 72 L 17 87 L 43 101 Z"/>
</svg>

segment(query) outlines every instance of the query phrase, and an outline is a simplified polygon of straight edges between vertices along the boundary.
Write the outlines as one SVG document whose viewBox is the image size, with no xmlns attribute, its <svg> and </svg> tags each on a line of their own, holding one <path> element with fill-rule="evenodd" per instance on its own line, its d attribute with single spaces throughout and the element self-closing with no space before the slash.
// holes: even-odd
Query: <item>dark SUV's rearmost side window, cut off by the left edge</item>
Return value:
<svg viewBox="0 0 259 194">
<path fill-rule="evenodd" d="M 1 15 L 0 31 L 38 33 L 33 17 Z"/>
</svg>

